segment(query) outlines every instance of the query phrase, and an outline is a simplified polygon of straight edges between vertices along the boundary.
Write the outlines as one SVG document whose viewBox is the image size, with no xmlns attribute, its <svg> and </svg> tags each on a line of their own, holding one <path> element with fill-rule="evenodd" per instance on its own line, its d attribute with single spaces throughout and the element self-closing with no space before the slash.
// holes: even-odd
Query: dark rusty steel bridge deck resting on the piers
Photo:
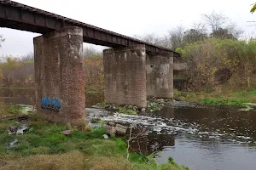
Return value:
<svg viewBox="0 0 256 170">
<path fill-rule="evenodd" d="M 77 20 L 68 19 L 38 8 L 32 8 L 21 3 L 0 0 L 0 27 L 44 34 L 64 26 L 79 26 L 83 28 L 84 42 L 112 48 L 127 47 L 133 44 L 145 44 L 147 52 L 173 53 L 173 56 L 179 56 L 179 54 L 168 48 L 162 48 L 148 42 L 91 26 Z"/>
</svg>

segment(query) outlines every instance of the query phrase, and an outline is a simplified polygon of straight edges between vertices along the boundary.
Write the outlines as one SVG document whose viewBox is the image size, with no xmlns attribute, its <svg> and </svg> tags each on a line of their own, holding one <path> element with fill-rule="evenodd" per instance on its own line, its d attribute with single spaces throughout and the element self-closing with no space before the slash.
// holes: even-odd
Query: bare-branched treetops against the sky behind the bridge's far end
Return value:
<svg viewBox="0 0 256 170">
<path fill-rule="evenodd" d="M 201 22 L 193 22 L 189 28 L 177 26 L 162 37 L 152 33 L 135 38 L 176 50 L 184 48 L 188 43 L 198 42 L 209 38 L 233 39 L 241 37 L 243 31 L 236 23 L 222 13 L 212 11 L 201 14 Z"/>
</svg>

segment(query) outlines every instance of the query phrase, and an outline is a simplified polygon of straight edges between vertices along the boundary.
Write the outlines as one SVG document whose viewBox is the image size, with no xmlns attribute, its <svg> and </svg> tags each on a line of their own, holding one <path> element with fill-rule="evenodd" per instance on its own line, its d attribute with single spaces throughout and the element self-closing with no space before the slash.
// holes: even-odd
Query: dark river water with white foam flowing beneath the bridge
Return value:
<svg viewBox="0 0 256 170">
<path fill-rule="evenodd" d="M 33 91 L 0 90 L 0 101 L 7 104 L 34 105 L 34 98 Z M 103 99 L 102 94 L 86 94 L 86 107 Z M 103 119 L 147 127 L 140 151 L 154 153 L 160 163 L 172 157 L 192 170 L 256 169 L 256 111 L 178 102 L 154 113 L 115 113 Z"/>
</svg>

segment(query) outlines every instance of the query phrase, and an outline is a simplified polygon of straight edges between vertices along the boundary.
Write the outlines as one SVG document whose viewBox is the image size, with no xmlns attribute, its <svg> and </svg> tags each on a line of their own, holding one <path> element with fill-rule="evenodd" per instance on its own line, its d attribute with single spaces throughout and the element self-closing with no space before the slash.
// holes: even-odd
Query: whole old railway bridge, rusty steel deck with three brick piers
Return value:
<svg viewBox="0 0 256 170">
<path fill-rule="evenodd" d="M 0 0 L 0 27 L 42 34 L 35 37 L 38 114 L 52 122 L 84 117 L 83 42 L 103 50 L 105 102 L 147 106 L 147 97 L 173 97 L 173 57 L 168 48 L 90 26 L 9 0 Z"/>
</svg>

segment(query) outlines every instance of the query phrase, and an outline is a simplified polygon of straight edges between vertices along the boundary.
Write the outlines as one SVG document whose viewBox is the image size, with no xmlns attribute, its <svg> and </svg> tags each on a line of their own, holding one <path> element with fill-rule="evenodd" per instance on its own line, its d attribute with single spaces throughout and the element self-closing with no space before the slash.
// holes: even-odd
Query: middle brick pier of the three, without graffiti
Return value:
<svg viewBox="0 0 256 170">
<path fill-rule="evenodd" d="M 145 45 L 103 51 L 105 102 L 147 106 Z"/>
</svg>

